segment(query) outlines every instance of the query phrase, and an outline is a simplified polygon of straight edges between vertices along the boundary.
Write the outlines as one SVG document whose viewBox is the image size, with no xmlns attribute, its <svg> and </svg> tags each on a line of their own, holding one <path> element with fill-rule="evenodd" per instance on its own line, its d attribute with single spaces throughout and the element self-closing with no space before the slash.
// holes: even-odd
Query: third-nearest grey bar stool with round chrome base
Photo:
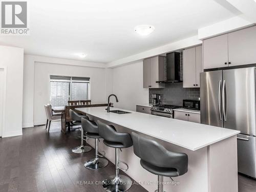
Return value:
<svg viewBox="0 0 256 192">
<path fill-rule="evenodd" d="M 98 158 L 104 157 L 104 155 L 99 155 L 98 153 L 98 140 L 101 138 L 99 136 L 99 130 L 98 130 L 98 125 L 94 121 L 90 121 L 87 118 L 82 118 L 82 129 L 84 132 L 86 132 L 87 137 L 95 139 L 95 158 L 88 160 L 86 163 L 84 163 L 84 166 L 88 169 L 100 169 L 105 167 L 106 165 L 109 164 L 109 161 L 103 158 Z"/>
</svg>

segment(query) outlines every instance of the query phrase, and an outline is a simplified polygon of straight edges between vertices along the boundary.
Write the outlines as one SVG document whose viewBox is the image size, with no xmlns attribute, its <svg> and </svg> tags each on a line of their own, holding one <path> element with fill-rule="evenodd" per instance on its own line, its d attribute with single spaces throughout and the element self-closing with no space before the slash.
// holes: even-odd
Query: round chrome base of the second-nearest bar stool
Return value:
<svg viewBox="0 0 256 192">
<path fill-rule="evenodd" d="M 102 184 L 102 187 L 109 192 L 126 191 L 131 186 L 132 180 L 125 175 L 119 175 L 118 178 L 113 175 L 109 179 L 104 180 Z"/>
</svg>

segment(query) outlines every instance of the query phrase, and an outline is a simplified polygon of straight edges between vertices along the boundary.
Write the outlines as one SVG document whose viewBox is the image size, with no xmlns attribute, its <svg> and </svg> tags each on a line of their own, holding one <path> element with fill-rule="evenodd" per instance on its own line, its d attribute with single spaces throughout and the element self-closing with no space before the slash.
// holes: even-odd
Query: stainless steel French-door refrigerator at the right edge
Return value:
<svg viewBox="0 0 256 192">
<path fill-rule="evenodd" d="M 256 178 L 255 68 L 201 73 L 200 100 L 201 123 L 241 131 L 238 172 Z"/>
</svg>

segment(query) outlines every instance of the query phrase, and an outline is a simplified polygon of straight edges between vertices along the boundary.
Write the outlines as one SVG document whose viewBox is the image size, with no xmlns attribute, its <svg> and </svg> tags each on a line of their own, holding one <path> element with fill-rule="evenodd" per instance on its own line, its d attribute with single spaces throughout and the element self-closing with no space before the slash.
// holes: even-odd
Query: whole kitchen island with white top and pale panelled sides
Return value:
<svg viewBox="0 0 256 192">
<path fill-rule="evenodd" d="M 237 134 L 239 131 L 220 127 L 130 112 L 127 114 L 107 113 L 105 107 L 79 108 L 91 120 L 112 124 L 118 132 L 136 132 L 161 143 L 167 150 L 188 155 L 188 172 L 180 177 L 164 180 L 166 191 L 182 192 L 237 192 Z M 94 140 L 88 143 L 94 146 Z M 99 150 L 106 152 L 106 158 L 115 162 L 113 148 L 99 143 Z M 157 188 L 157 176 L 147 172 L 133 153 L 133 147 L 124 148 L 120 159 L 129 164 L 127 174 L 148 191 Z M 114 173 L 114 170 L 113 170 Z M 111 174 L 111 173 L 110 173 Z M 106 176 L 107 177 L 107 176 Z M 155 182 L 155 183 L 152 183 Z"/>
</svg>

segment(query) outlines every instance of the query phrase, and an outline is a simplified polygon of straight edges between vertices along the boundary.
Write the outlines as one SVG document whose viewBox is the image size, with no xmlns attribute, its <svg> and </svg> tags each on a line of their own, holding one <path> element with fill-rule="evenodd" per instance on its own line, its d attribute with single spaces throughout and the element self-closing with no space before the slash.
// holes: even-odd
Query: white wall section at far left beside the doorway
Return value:
<svg viewBox="0 0 256 192">
<path fill-rule="evenodd" d="M 22 135 L 23 56 L 22 48 L 0 46 L 0 66 L 7 68 L 3 137 Z"/>
</svg>

